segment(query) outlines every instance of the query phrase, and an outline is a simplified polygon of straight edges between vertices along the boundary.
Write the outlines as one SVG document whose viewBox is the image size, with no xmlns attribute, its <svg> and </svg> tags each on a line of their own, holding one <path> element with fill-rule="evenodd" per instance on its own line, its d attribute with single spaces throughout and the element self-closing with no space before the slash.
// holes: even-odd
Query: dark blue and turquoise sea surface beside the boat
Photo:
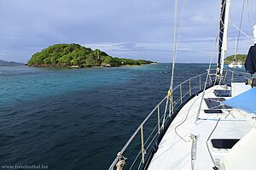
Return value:
<svg viewBox="0 0 256 170">
<path fill-rule="evenodd" d="M 177 64 L 175 83 L 207 67 Z M 166 95 L 171 69 L 171 64 L 88 69 L 1 66 L 0 166 L 108 169 Z"/>
</svg>

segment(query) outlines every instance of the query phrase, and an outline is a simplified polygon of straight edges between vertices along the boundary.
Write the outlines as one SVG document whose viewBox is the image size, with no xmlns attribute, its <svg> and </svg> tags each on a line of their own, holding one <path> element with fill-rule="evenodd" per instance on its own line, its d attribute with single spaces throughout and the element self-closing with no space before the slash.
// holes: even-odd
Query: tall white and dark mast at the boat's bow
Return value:
<svg viewBox="0 0 256 170">
<path fill-rule="evenodd" d="M 220 8 L 221 20 L 219 20 L 218 62 L 217 62 L 217 75 L 220 75 L 220 76 L 223 74 L 224 55 L 227 50 L 229 17 L 230 17 L 230 0 L 222 0 L 221 8 Z"/>
</svg>

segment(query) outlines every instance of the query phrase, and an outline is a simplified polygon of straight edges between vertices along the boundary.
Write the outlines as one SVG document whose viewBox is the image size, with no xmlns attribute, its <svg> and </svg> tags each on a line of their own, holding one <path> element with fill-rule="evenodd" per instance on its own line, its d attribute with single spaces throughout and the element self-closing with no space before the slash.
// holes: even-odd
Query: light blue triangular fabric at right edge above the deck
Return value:
<svg viewBox="0 0 256 170">
<path fill-rule="evenodd" d="M 251 88 L 234 98 L 224 100 L 224 105 L 230 105 L 241 111 L 251 112 L 256 115 L 256 88 Z"/>
</svg>

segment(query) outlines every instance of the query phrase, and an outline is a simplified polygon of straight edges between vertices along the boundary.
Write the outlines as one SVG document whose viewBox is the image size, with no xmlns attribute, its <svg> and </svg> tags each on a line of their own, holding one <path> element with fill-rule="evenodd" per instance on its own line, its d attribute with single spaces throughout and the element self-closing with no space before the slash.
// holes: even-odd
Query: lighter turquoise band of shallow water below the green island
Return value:
<svg viewBox="0 0 256 170">
<path fill-rule="evenodd" d="M 132 68 L 129 68 L 132 70 Z M 111 86 L 131 79 L 132 73 L 123 67 L 95 69 L 49 69 L 2 67 L 1 104 L 27 101 L 68 92 Z M 123 75 L 125 73 L 125 76 Z"/>
</svg>

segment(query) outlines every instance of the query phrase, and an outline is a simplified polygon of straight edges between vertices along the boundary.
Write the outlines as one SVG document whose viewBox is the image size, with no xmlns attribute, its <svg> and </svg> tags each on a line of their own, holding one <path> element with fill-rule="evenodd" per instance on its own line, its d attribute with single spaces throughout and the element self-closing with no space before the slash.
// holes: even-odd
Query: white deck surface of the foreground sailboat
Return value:
<svg viewBox="0 0 256 170">
<path fill-rule="evenodd" d="M 214 86 L 207 89 L 205 99 L 217 98 L 213 94 L 214 89 L 224 89 L 224 87 Z M 213 148 L 211 139 L 241 139 L 253 128 L 252 123 L 247 121 L 248 114 L 242 111 L 222 109 L 224 112 L 222 114 L 206 114 L 204 110 L 209 108 L 205 101 L 202 102 L 200 119 L 196 120 L 201 95 L 202 93 L 189 100 L 178 112 L 161 140 L 159 149 L 149 164 L 149 170 L 212 170 L 214 167 L 212 159 L 215 163 L 222 160 L 229 150 Z M 218 121 L 218 119 L 220 120 Z M 183 124 L 181 124 L 182 122 Z M 196 142 L 194 143 L 190 137 L 191 134 L 196 135 Z M 207 142 L 210 135 L 211 138 Z M 193 144 L 195 144 L 195 151 L 191 151 Z M 192 156 L 195 156 L 194 161 L 192 161 Z"/>
</svg>

